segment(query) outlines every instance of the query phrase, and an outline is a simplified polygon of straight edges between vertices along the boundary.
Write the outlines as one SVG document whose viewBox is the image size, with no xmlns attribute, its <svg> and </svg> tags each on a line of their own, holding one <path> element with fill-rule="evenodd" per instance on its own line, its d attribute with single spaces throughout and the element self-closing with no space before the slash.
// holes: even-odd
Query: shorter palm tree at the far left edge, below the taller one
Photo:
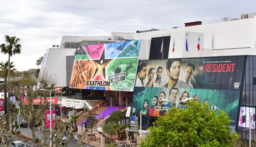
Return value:
<svg viewBox="0 0 256 147">
<path fill-rule="evenodd" d="M 11 73 L 13 71 L 16 71 L 14 68 L 13 62 L 10 63 L 10 70 Z M 6 113 L 7 111 L 7 91 L 6 91 L 6 82 L 7 82 L 7 76 L 8 76 L 8 61 L 3 63 L 3 61 L 0 62 L 0 77 L 4 78 L 4 112 Z"/>
</svg>

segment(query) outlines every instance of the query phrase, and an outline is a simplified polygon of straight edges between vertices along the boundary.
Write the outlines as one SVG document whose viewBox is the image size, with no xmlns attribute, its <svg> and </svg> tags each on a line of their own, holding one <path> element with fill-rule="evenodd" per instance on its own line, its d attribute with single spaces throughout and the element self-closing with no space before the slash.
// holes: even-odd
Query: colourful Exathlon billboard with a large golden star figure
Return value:
<svg viewBox="0 0 256 147">
<path fill-rule="evenodd" d="M 140 40 L 80 46 L 70 88 L 133 91 Z"/>
</svg>

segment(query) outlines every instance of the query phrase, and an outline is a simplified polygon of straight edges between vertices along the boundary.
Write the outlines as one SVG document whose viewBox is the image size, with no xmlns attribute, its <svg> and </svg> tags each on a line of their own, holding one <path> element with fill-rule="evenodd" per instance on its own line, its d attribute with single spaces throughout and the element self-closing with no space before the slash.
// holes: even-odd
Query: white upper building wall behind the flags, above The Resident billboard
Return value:
<svg viewBox="0 0 256 147">
<path fill-rule="evenodd" d="M 212 24 L 202 24 L 197 26 L 165 29 L 165 30 L 159 30 L 159 31 L 134 33 L 133 39 L 151 40 L 152 37 L 170 35 L 171 36 L 170 49 L 172 50 L 173 38 L 174 38 L 175 51 L 177 51 L 177 49 L 180 49 L 179 51 L 177 51 L 177 57 L 185 57 L 183 56 L 184 44 L 185 44 L 183 34 L 186 32 L 189 33 L 188 44 L 197 44 L 198 42 L 198 35 L 190 35 L 190 34 L 192 33 L 201 34 L 202 37 L 200 37 L 200 41 L 202 44 L 200 44 L 200 46 L 203 46 L 204 49 L 212 49 L 212 38 L 214 34 L 214 50 L 215 50 L 215 54 L 213 54 L 214 56 L 224 56 L 224 55 L 227 56 L 227 55 L 233 55 L 233 54 L 245 55 L 245 54 L 250 54 L 250 52 L 254 52 L 256 48 L 256 17 L 249 18 L 249 19 L 218 22 L 218 23 L 212 23 Z M 233 49 L 251 49 L 251 50 L 243 50 L 242 52 L 240 52 L 240 50 L 233 50 Z M 183 54 L 180 54 L 182 53 L 181 50 L 183 50 Z M 219 50 L 222 50 L 222 51 L 219 51 Z M 229 51 L 225 51 L 225 50 L 229 50 Z M 208 55 L 208 52 L 206 54 Z M 192 53 L 189 55 L 192 55 Z M 173 58 L 173 54 L 169 53 L 169 56 L 170 58 Z M 174 56 L 176 57 L 176 55 Z M 204 53 L 201 53 L 198 56 L 206 56 L 206 55 L 204 55 Z M 192 57 L 192 56 L 189 56 L 189 57 Z"/>
</svg>

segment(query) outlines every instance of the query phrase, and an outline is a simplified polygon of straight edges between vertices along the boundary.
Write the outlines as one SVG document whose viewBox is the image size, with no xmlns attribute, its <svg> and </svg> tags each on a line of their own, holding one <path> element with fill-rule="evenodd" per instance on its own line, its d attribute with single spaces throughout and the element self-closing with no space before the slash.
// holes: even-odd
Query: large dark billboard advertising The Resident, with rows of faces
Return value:
<svg viewBox="0 0 256 147">
<path fill-rule="evenodd" d="M 143 112 L 142 128 L 148 128 L 170 107 L 185 108 L 186 101 L 178 101 L 194 98 L 209 103 L 216 113 L 225 111 L 234 131 L 244 64 L 245 56 L 140 60 L 130 116 Z"/>
</svg>

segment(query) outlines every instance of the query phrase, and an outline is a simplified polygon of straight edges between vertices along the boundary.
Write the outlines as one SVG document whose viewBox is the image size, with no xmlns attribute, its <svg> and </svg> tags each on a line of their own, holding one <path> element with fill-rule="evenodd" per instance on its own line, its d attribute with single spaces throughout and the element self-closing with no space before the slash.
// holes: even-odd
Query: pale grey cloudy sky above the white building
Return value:
<svg viewBox="0 0 256 147">
<path fill-rule="evenodd" d="M 239 18 L 256 12 L 256 1 L 238 0 L 33 0 L 1 1 L 0 43 L 17 36 L 22 54 L 11 57 L 18 71 L 37 69 L 36 60 L 62 36 L 111 36 L 111 32 L 183 27 L 184 23 L 209 24 L 223 17 Z M 3 62 L 7 55 L 0 53 Z M 40 66 L 39 66 L 40 68 Z"/>
</svg>

